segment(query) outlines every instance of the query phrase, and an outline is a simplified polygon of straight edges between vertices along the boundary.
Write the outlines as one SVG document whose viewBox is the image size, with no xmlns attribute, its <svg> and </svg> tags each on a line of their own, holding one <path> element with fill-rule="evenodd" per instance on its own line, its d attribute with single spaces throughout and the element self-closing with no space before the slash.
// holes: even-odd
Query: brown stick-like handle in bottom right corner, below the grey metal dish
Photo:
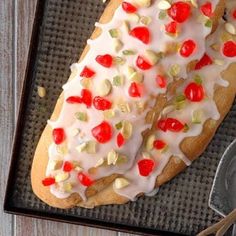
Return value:
<svg viewBox="0 0 236 236">
<path fill-rule="evenodd" d="M 197 236 L 207 236 L 213 233 L 216 233 L 216 236 L 223 236 L 226 233 L 226 231 L 230 228 L 230 226 L 233 225 L 235 222 L 236 222 L 236 209 L 234 209 L 229 215 L 227 215 L 220 222 L 203 230 Z"/>
</svg>

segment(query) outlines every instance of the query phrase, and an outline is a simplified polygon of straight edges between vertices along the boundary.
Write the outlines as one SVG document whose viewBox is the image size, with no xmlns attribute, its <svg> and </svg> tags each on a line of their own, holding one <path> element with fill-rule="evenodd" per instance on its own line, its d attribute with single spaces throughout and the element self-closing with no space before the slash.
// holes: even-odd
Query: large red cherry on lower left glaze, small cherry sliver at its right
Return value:
<svg viewBox="0 0 236 236">
<path fill-rule="evenodd" d="M 103 121 L 92 129 L 92 135 L 99 143 L 107 143 L 112 137 L 112 127 L 108 122 Z"/>
</svg>

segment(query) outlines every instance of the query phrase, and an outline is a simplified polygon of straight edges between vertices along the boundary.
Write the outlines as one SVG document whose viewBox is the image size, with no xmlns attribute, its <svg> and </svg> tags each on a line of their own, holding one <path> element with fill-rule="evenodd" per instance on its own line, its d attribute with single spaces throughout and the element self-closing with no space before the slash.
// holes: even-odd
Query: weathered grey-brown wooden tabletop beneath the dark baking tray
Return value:
<svg viewBox="0 0 236 236">
<path fill-rule="evenodd" d="M 0 236 L 128 236 L 3 213 L 12 136 L 36 0 L 0 0 Z"/>
</svg>

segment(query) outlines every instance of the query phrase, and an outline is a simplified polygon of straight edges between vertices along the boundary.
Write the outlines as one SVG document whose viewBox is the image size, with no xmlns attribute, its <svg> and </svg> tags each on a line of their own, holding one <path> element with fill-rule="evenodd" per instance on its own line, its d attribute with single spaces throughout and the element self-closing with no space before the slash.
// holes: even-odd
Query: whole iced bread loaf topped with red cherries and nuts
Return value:
<svg viewBox="0 0 236 236">
<path fill-rule="evenodd" d="M 235 98 L 232 9 L 110 1 L 39 140 L 34 193 L 58 208 L 123 204 L 195 160 Z"/>
</svg>

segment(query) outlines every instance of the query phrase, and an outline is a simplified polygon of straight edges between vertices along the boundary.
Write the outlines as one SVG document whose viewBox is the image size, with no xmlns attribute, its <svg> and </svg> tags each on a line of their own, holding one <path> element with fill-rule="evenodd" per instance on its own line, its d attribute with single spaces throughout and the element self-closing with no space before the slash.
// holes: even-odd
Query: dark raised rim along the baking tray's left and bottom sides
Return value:
<svg viewBox="0 0 236 236">
<path fill-rule="evenodd" d="M 113 230 L 117 232 L 125 232 L 125 233 L 132 233 L 132 234 L 138 234 L 138 235 L 183 235 L 183 234 L 177 234 L 172 233 L 169 231 L 161 231 L 161 230 L 154 230 L 154 229 L 148 229 L 148 228 L 141 228 L 137 226 L 132 225 L 123 225 L 123 224 L 116 224 L 112 222 L 105 222 L 105 221 L 99 221 L 95 219 L 87 219 L 82 217 L 74 217 L 74 216 L 67 216 L 67 219 L 64 219 L 64 216 L 60 215 L 59 213 L 46 213 L 41 212 L 33 209 L 25 209 L 25 208 L 18 208 L 13 205 L 11 205 L 9 199 L 12 195 L 12 188 L 11 185 L 14 182 L 14 169 L 16 166 L 16 160 L 18 159 L 18 150 L 20 148 L 20 137 L 22 134 L 22 126 L 24 124 L 24 116 L 26 113 L 26 102 L 29 99 L 29 94 L 26 94 L 26 90 L 28 87 L 30 87 L 34 75 L 34 67 L 36 65 L 36 58 L 38 56 L 38 48 L 40 46 L 40 37 L 41 37 L 41 31 L 42 31 L 42 22 L 44 18 L 44 9 L 46 7 L 47 0 L 37 0 L 36 3 L 36 10 L 34 15 L 34 21 L 32 26 L 32 34 L 30 39 L 30 46 L 27 56 L 27 64 L 25 69 L 25 75 L 23 80 L 22 89 L 20 92 L 20 102 L 19 102 L 19 109 L 17 114 L 17 122 L 16 127 L 14 130 L 13 135 L 13 143 L 11 148 L 11 154 L 10 154 L 10 167 L 8 171 L 8 178 L 7 178 L 7 184 L 5 188 L 5 197 L 3 202 L 3 210 L 5 213 L 8 214 L 14 214 L 14 215 L 20 215 L 20 216 L 26 216 L 26 217 L 32 217 L 35 219 L 43 219 L 43 220 L 49 220 L 49 221 L 55 221 L 55 222 L 62 222 L 62 223 L 68 223 L 68 224 L 75 224 L 75 225 L 82 225 L 82 226 L 89 226 L 93 228 L 100 228 L 100 229 L 107 229 L 107 230 Z"/>
</svg>

